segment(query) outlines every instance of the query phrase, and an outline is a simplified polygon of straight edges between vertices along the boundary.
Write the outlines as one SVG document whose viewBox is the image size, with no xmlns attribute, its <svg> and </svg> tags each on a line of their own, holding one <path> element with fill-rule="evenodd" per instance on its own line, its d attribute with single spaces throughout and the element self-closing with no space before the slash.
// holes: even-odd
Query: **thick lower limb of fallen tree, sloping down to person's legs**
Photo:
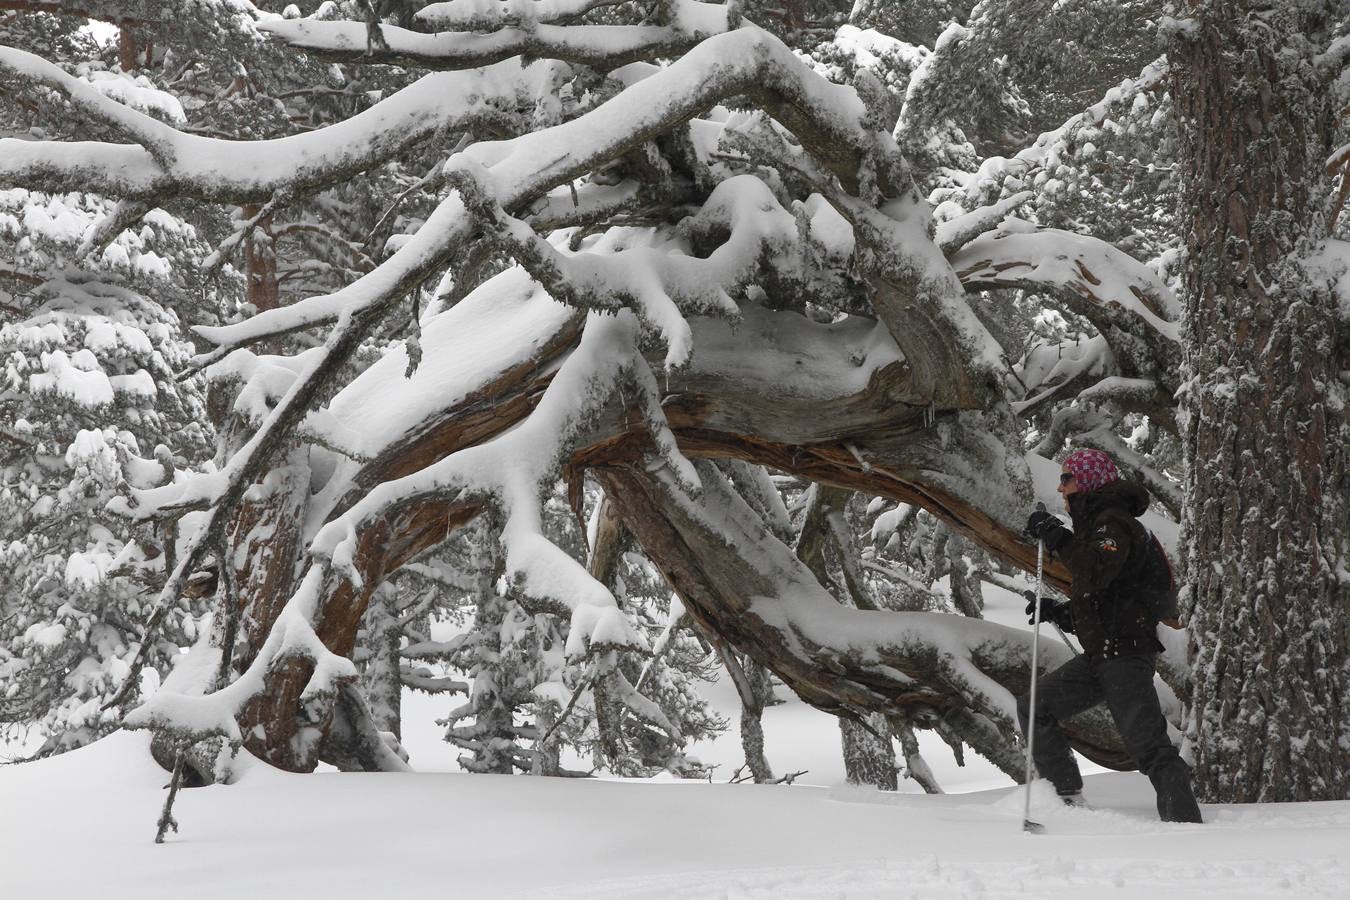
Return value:
<svg viewBox="0 0 1350 900">
<path fill-rule="evenodd" d="M 1017 733 L 1013 691 L 1027 677 L 1025 631 L 940 613 L 840 606 L 710 464 L 699 464 L 697 499 L 660 471 L 606 467 L 597 475 L 690 615 L 807 703 L 841 714 L 965 708 L 1004 745 Z M 756 552 L 741 555 L 744 546 Z M 1052 667 L 1069 656 L 1049 638 L 1040 650 Z M 1125 761 L 1114 735 L 1084 721 L 1071 730 L 1089 757 Z"/>
</svg>

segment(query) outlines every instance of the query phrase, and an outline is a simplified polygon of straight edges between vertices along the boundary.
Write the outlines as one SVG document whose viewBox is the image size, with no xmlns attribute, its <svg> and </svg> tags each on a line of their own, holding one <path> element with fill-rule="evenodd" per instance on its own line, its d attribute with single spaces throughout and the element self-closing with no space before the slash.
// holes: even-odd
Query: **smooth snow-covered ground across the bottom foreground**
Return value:
<svg viewBox="0 0 1350 900">
<path fill-rule="evenodd" d="M 1088 777 L 1096 811 L 1015 789 L 470 775 L 294 776 L 251 766 L 185 792 L 144 734 L 0 768 L 0 896 L 97 897 L 1345 897 L 1350 801 L 1206 807 L 1161 824 L 1138 775 Z M 1087 895 L 1094 896 L 1094 895 Z"/>
</svg>

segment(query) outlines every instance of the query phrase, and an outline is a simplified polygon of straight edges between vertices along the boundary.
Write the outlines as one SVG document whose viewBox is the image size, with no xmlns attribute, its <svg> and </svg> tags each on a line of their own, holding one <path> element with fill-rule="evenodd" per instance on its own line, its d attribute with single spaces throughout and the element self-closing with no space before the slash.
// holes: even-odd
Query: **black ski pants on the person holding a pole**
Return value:
<svg viewBox="0 0 1350 900">
<path fill-rule="evenodd" d="M 1040 679 L 1033 746 L 1035 770 L 1060 793 L 1081 791 L 1083 776 L 1060 722 L 1106 700 L 1126 750 L 1153 783 L 1158 816 L 1164 822 L 1200 822 L 1200 807 L 1191 792 L 1191 766 L 1168 738 L 1168 723 L 1153 690 L 1154 658 L 1152 653 L 1110 660 L 1081 654 Z M 1023 734 L 1030 734 L 1030 694 L 1018 698 Z"/>
</svg>

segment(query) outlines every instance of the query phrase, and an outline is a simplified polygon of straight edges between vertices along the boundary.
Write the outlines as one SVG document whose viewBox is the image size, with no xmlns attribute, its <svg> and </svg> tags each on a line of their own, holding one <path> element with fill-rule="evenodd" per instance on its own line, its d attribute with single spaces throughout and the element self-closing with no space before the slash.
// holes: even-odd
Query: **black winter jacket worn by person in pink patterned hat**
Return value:
<svg viewBox="0 0 1350 900">
<path fill-rule="evenodd" d="M 1069 495 L 1073 530 L 1053 526 L 1045 546 L 1073 576 L 1069 613 L 1091 656 L 1111 658 L 1162 649 L 1156 615 L 1142 595 L 1149 533 L 1138 517 L 1149 493 L 1118 480 L 1096 491 Z"/>
</svg>

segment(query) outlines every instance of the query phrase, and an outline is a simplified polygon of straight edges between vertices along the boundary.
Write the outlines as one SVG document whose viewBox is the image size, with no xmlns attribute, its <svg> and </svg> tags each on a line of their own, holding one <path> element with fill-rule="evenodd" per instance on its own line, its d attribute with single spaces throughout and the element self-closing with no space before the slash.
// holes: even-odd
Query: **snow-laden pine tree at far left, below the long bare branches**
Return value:
<svg viewBox="0 0 1350 900">
<path fill-rule="evenodd" d="M 40 753 L 116 727 L 134 664 L 166 675 L 204 611 L 184 596 L 142 642 L 165 548 L 109 506 L 202 459 L 212 434 L 200 387 L 173 378 L 190 352 L 178 318 L 116 281 L 69 271 L 0 324 L 0 719 L 38 727 Z"/>
</svg>

